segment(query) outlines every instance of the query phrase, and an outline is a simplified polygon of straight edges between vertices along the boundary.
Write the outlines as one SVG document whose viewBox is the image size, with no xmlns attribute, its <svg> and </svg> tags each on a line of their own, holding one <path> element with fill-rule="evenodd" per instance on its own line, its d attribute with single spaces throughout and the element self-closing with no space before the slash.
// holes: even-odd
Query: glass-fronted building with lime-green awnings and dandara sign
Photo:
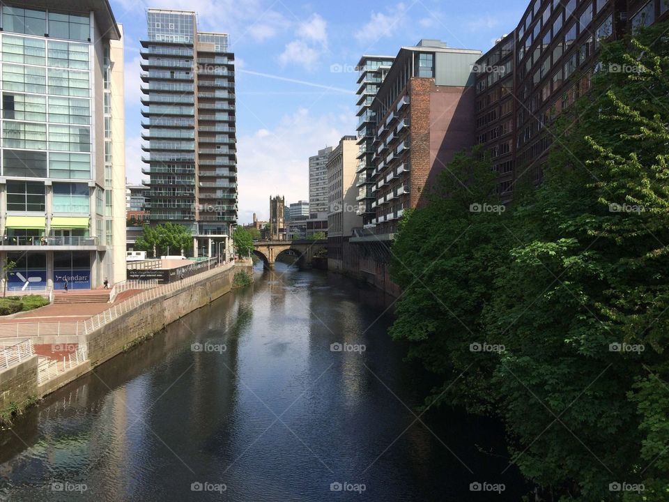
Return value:
<svg viewBox="0 0 669 502">
<path fill-rule="evenodd" d="M 106 0 L 3 1 L 0 22 L 8 288 L 125 280 L 121 26 Z"/>
</svg>

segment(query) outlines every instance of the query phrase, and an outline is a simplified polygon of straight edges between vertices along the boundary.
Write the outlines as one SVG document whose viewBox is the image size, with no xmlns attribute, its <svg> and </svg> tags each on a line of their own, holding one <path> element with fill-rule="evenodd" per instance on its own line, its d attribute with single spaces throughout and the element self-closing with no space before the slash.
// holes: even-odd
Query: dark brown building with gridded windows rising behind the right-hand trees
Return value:
<svg viewBox="0 0 669 502">
<path fill-rule="evenodd" d="M 518 26 L 477 61 L 477 143 L 489 149 L 498 192 L 541 180 L 546 126 L 590 89 L 602 40 L 668 17 L 666 0 L 535 0 Z"/>
</svg>

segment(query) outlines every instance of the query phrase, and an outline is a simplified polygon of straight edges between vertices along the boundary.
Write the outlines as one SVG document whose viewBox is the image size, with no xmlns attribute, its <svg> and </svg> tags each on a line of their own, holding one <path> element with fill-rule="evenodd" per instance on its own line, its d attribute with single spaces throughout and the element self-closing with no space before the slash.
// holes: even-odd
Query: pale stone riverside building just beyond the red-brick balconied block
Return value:
<svg viewBox="0 0 669 502">
<path fill-rule="evenodd" d="M 357 137 L 344 136 L 328 159 L 328 269 L 341 271 L 344 241 L 362 228 L 357 188 Z"/>
</svg>

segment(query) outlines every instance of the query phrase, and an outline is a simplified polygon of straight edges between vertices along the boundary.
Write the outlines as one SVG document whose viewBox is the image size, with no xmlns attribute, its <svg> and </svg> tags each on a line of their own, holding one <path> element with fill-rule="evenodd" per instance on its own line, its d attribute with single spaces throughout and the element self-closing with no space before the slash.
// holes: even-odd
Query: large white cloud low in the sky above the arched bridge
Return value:
<svg viewBox="0 0 669 502">
<path fill-rule="evenodd" d="M 289 203 L 308 199 L 309 157 L 354 129 L 353 109 L 314 116 L 302 108 L 272 130 L 238 137 L 240 222 L 250 222 L 253 213 L 267 220 L 270 195 L 285 195 Z"/>
</svg>

